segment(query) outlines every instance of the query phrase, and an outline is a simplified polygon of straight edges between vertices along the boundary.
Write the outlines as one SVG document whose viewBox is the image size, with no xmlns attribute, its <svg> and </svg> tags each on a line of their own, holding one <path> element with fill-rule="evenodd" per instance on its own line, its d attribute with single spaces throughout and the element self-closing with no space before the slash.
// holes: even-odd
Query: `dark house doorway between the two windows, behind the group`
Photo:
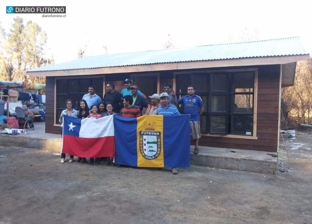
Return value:
<svg viewBox="0 0 312 224">
<path fill-rule="evenodd" d="M 139 91 L 141 91 L 147 98 L 148 103 L 151 102 L 149 96 L 154 93 L 158 93 L 158 76 L 133 76 L 133 85 L 138 86 Z M 142 114 L 146 113 L 146 108 L 143 109 Z"/>
</svg>

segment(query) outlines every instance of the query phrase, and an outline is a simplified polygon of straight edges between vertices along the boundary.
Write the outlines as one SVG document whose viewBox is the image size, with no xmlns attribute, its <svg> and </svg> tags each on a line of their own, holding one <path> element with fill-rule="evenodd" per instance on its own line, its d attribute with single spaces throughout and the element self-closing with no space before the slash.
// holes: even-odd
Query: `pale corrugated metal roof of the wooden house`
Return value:
<svg viewBox="0 0 312 224">
<path fill-rule="evenodd" d="M 26 72 L 108 68 L 157 63 L 276 57 L 309 54 L 299 37 L 163 49 L 124 54 L 105 54 L 28 70 Z"/>
</svg>

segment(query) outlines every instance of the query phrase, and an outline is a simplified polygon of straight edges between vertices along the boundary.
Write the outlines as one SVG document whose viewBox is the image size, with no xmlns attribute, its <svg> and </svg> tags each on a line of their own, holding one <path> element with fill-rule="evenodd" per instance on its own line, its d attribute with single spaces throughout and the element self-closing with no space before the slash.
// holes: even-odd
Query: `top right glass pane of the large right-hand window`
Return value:
<svg viewBox="0 0 312 224">
<path fill-rule="evenodd" d="M 233 92 L 253 92 L 254 73 L 234 73 L 233 74 Z"/>
</svg>

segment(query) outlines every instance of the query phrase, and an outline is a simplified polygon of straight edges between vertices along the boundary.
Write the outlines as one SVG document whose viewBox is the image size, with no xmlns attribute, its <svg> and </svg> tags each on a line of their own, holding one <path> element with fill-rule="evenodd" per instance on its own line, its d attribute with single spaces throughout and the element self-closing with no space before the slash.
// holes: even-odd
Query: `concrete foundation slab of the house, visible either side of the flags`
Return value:
<svg viewBox="0 0 312 224">
<path fill-rule="evenodd" d="M 61 152 L 61 135 L 45 133 L 44 122 L 35 123 L 35 130 L 27 129 L 27 133 L 15 136 L 0 134 L 0 146 L 41 148 L 54 153 Z M 192 165 L 276 174 L 277 157 L 268 154 L 276 155 L 272 152 L 203 146 L 199 146 L 199 154 L 194 154 L 194 146 L 190 147 Z"/>
</svg>

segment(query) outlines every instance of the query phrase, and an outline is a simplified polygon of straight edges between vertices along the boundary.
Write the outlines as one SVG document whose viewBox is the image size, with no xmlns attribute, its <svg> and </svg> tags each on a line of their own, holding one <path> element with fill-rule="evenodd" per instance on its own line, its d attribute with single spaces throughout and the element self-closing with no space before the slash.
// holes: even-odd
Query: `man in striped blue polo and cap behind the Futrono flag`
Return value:
<svg viewBox="0 0 312 224">
<path fill-rule="evenodd" d="M 157 115 L 163 115 L 163 116 L 171 116 L 180 114 L 178 111 L 178 108 L 169 103 L 169 95 L 168 93 L 164 92 L 160 94 L 160 102 L 161 105 L 157 108 L 156 114 Z M 173 174 L 178 174 L 177 168 L 171 168 L 171 171 Z"/>
</svg>

